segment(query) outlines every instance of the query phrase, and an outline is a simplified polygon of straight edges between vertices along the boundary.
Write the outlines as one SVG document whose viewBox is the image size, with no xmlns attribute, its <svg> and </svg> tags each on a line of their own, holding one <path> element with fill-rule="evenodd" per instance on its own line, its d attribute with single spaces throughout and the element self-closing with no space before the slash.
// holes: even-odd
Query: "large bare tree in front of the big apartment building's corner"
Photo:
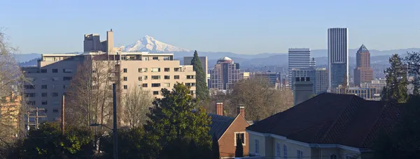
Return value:
<svg viewBox="0 0 420 159">
<path fill-rule="evenodd" d="M 78 66 L 66 97 L 69 124 L 111 124 L 112 84 L 119 80 L 119 72 L 116 61 L 100 59 L 100 56 L 86 58 Z"/>
</svg>

